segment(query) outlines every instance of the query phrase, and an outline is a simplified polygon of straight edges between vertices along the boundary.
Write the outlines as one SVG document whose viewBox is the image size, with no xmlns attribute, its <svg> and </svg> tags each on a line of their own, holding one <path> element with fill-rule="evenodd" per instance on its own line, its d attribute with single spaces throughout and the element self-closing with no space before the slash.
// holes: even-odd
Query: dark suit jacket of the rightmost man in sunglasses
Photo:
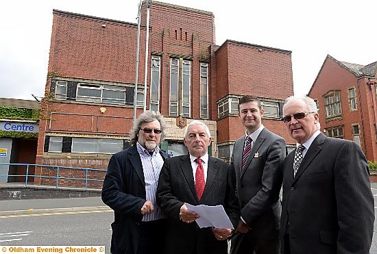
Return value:
<svg viewBox="0 0 377 254">
<path fill-rule="evenodd" d="M 291 253 L 369 253 L 374 198 L 358 144 L 319 134 L 293 179 L 294 155 L 284 162 L 281 218 Z"/>
</svg>

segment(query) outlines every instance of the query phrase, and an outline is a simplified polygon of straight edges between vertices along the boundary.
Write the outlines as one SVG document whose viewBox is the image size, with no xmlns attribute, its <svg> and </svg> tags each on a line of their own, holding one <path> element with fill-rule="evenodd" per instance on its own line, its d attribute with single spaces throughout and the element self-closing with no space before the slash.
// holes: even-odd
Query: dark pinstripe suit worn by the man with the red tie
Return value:
<svg viewBox="0 0 377 254">
<path fill-rule="evenodd" d="M 195 222 L 183 223 L 180 220 L 180 207 L 184 203 L 223 205 L 235 227 L 239 220 L 239 208 L 234 194 L 234 174 L 229 164 L 208 158 L 206 187 L 199 201 L 189 155 L 171 157 L 162 166 L 156 198 L 162 212 L 169 218 L 165 254 L 228 253 L 227 241 L 216 240 L 209 227 L 199 229 Z"/>
</svg>

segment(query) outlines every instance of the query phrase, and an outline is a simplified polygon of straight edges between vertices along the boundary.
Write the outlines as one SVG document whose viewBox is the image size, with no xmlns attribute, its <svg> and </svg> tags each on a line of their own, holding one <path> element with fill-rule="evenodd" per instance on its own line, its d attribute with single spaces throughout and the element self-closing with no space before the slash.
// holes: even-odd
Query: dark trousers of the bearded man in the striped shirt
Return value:
<svg viewBox="0 0 377 254">
<path fill-rule="evenodd" d="M 166 227 L 166 219 L 142 222 L 137 254 L 162 254 Z"/>
</svg>

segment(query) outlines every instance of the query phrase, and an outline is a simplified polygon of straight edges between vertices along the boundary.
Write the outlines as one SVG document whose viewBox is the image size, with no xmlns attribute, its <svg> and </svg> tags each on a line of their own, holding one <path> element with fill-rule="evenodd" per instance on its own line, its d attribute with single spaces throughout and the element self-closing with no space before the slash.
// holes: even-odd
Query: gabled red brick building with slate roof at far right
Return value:
<svg viewBox="0 0 377 254">
<path fill-rule="evenodd" d="M 317 101 L 321 131 L 354 140 L 367 160 L 377 161 L 377 62 L 363 66 L 327 55 L 308 96 Z"/>
</svg>

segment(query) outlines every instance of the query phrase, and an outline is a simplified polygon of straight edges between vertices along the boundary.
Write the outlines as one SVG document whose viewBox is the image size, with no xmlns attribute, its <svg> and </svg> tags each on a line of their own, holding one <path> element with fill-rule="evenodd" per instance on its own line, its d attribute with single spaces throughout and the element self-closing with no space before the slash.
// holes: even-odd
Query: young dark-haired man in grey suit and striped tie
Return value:
<svg viewBox="0 0 377 254">
<path fill-rule="evenodd" d="M 245 135 L 234 144 L 231 166 L 241 219 L 232 238 L 232 254 L 280 252 L 279 199 L 285 141 L 261 123 L 262 103 L 247 95 L 239 100 L 239 118 Z"/>
</svg>

